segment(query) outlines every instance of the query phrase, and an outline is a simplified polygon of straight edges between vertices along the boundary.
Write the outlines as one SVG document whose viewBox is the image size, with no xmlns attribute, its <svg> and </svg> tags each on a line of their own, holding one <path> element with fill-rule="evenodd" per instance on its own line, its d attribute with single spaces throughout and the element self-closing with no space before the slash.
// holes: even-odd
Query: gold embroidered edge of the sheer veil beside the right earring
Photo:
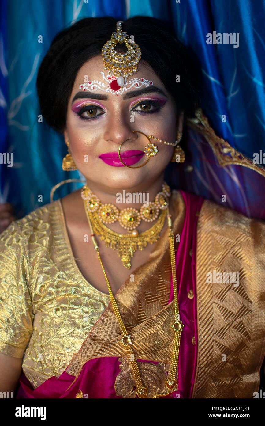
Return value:
<svg viewBox="0 0 265 426">
<path fill-rule="evenodd" d="M 244 166 L 265 177 L 265 167 L 257 166 L 251 159 L 245 157 L 242 153 L 239 153 L 239 151 L 231 147 L 227 141 L 216 135 L 212 127 L 209 125 L 208 118 L 203 114 L 201 108 L 196 110 L 195 117 L 189 118 L 187 123 L 188 126 L 204 135 L 208 144 L 214 151 L 221 167 L 229 166 L 231 164 Z"/>
</svg>

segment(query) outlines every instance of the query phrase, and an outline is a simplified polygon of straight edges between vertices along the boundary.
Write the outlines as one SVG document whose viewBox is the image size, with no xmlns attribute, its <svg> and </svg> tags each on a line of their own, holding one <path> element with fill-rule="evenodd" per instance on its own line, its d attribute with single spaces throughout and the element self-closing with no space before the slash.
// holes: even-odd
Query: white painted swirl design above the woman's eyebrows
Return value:
<svg viewBox="0 0 265 426">
<path fill-rule="evenodd" d="M 136 89 L 140 89 L 140 87 L 152 86 L 153 81 L 146 80 L 145 78 L 132 78 L 129 81 L 125 81 L 124 85 L 120 87 L 119 90 L 111 89 L 111 83 L 117 78 L 114 75 L 107 74 L 105 77 L 104 72 L 101 71 L 104 81 L 88 81 L 87 83 L 80 84 L 79 89 L 88 90 L 89 92 L 95 92 L 97 89 L 103 90 L 103 92 L 113 93 L 114 95 L 120 95 L 123 92 L 131 89 L 131 87 L 135 87 Z M 113 83 L 114 84 L 114 83 Z"/>
</svg>

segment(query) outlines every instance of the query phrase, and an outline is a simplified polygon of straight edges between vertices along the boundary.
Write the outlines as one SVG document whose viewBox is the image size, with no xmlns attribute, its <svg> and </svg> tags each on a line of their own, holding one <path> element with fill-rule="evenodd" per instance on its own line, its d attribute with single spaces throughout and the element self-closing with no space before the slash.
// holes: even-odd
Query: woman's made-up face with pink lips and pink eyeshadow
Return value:
<svg viewBox="0 0 265 426">
<path fill-rule="evenodd" d="M 64 132 L 74 162 L 88 184 L 93 182 L 94 188 L 105 192 L 151 185 L 163 175 L 174 147 L 151 141 L 157 145 L 157 155 L 151 157 L 145 166 L 130 169 L 120 162 L 119 146 L 124 142 L 120 151 L 122 159 L 125 151 L 127 155 L 133 155 L 123 161 L 128 161 L 126 164 L 134 167 L 139 166 L 148 158 L 145 154 L 139 155 L 139 151 L 144 152 L 150 141 L 140 133 L 132 133 L 132 130 L 174 142 L 177 131 L 182 131 L 183 116 L 177 117 L 174 99 L 151 67 L 143 61 L 139 63 L 138 72 L 127 81 L 135 77 L 145 78 L 153 82 L 148 87 L 143 85 L 137 89 L 133 86 L 118 96 L 101 89 L 91 92 L 79 88 L 86 75 L 89 81 L 98 80 L 106 84 L 100 73 L 102 71 L 106 77 L 108 71 L 103 69 L 103 59 L 99 55 L 80 68 L 74 82 Z M 138 152 L 128 152 L 135 150 Z M 116 153 L 117 159 L 106 158 L 108 155 L 103 154 L 107 153 Z"/>
</svg>

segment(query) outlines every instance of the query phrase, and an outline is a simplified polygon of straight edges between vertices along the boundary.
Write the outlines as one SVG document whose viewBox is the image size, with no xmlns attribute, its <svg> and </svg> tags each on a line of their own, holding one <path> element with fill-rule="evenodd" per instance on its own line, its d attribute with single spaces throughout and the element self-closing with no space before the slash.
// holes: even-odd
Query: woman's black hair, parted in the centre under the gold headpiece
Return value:
<svg viewBox="0 0 265 426">
<path fill-rule="evenodd" d="M 103 44 L 116 31 L 113 17 L 84 18 L 60 31 L 43 58 L 37 75 L 40 111 L 59 133 L 66 128 L 68 100 L 80 67 L 100 55 Z M 142 61 L 147 62 L 173 96 L 185 117 L 199 104 L 196 66 L 188 49 L 165 23 L 154 17 L 134 16 L 123 22 L 123 31 L 134 35 Z M 122 49 L 124 44 L 120 45 Z M 180 75 L 180 83 L 176 83 Z"/>
</svg>

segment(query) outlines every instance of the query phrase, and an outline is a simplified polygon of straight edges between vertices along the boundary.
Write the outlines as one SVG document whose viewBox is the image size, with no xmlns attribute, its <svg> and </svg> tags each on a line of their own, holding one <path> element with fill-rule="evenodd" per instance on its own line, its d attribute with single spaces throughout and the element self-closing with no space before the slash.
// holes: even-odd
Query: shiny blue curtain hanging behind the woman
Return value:
<svg viewBox="0 0 265 426">
<path fill-rule="evenodd" d="M 66 154 L 62 137 L 38 122 L 37 70 L 53 37 L 83 17 L 125 20 L 139 14 L 172 20 L 177 37 L 197 55 L 202 110 L 217 135 L 248 158 L 265 152 L 265 0 L 1 0 L 0 152 L 13 153 L 14 164 L 1 165 L 0 202 L 14 204 L 20 216 L 48 203 L 54 184 L 79 178 L 77 172 L 61 169 Z M 213 31 L 238 33 L 239 47 L 207 44 L 206 35 Z M 43 43 L 38 43 L 40 35 Z M 265 187 L 265 178 L 252 172 L 246 179 L 243 169 L 228 167 L 221 191 L 234 182 L 229 206 L 265 218 L 264 200 L 260 214 L 251 208 L 260 201 L 252 186 L 256 180 Z M 187 177 L 186 182 L 188 190 L 220 202 L 205 164 L 197 164 L 196 179 Z M 58 193 L 63 196 L 73 189 L 74 184 L 64 185 Z"/>
</svg>

